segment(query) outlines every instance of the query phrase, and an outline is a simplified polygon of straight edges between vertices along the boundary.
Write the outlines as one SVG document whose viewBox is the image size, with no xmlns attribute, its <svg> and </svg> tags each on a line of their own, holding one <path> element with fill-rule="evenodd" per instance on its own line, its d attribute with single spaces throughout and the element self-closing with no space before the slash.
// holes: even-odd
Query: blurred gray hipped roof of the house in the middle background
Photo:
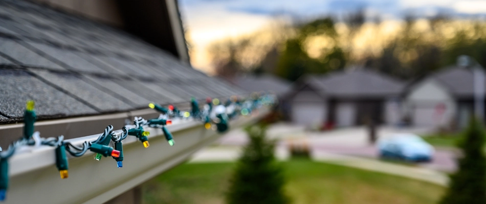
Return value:
<svg viewBox="0 0 486 204">
<path fill-rule="evenodd" d="M 328 97 L 387 97 L 399 95 L 404 82 L 364 68 L 332 72 L 308 81 L 320 87 Z"/>
</svg>

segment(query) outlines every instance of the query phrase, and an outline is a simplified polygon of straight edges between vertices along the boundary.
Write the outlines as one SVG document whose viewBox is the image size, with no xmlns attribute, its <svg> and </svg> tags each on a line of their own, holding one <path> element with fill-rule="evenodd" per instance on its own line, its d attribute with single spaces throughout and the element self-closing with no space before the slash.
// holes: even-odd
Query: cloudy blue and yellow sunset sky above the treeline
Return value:
<svg viewBox="0 0 486 204">
<path fill-rule="evenodd" d="M 486 0 L 178 0 L 186 38 L 191 43 L 191 64 L 212 72 L 208 45 L 225 38 L 254 33 L 276 18 L 311 20 L 340 17 L 364 9 L 369 19 L 401 19 L 445 13 L 455 17 L 486 16 Z"/>
</svg>

